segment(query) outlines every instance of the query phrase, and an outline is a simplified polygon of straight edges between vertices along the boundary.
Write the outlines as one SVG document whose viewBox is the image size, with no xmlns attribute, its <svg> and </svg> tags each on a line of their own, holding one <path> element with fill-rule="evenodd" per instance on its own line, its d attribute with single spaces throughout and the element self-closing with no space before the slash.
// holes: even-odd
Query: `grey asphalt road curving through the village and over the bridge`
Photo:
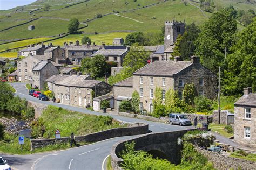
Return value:
<svg viewBox="0 0 256 170">
<path fill-rule="evenodd" d="M 28 90 L 25 88 L 25 83 L 11 83 L 17 90 L 16 95 L 19 95 L 26 100 L 55 105 L 72 111 L 79 111 L 85 114 L 93 115 L 110 115 L 102 112 L 90 111 L 85 108 L 73 107 L 70 105 L 52 103 L 50 101 L 40 101 L 35 97 L 28 95 Z M 143 122 L 149 124 L 149 129 L 152 132 L 163 132 L 171 130 L 191 129 L 192 126 L 178 126 L 158 122 L 145 121 L 142 119 L 122 117 L 111 115 L 113 118 L 124 122 Z M 18 169 L 103 169 L 103 162 L 110 154 L 111 147 L 117 141 L 133 138 L 134 136 L 111 138 L 104 141 L 99 141 L 90 145 L 71 148 L 69 150 L 54 151 L 48 153 L 32 154 L 32 155 L 3 155 L 8 160 L 11 166 Z"/>
</svg>

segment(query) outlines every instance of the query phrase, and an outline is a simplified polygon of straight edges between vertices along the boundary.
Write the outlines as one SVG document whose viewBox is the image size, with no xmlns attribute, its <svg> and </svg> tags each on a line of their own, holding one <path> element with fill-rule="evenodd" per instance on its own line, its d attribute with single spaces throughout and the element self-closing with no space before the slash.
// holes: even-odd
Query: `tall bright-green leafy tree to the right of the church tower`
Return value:
<svg viewBox="0 0 256 170">
<path fill-rule="evenodd" d="M 230 52 L 234 36 L 237 32 L 237 22 L 230 12 L 220 9 L 206 21 L 196 41 L 196 54 L 200 56 L 203 65 L 213 72 L 223 66 L 226 52 Z"/>
</svg>

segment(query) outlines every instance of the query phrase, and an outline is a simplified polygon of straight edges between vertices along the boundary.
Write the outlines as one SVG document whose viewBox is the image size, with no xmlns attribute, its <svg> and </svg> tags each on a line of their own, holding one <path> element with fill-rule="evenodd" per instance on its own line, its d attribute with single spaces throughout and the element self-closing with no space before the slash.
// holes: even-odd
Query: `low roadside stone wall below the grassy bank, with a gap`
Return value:
<svg viewBox="0 0 256 170">
<path fill-rule="evenodd" d="M 130 124 L 130 127 L 127 128 L 114 128 L 105 131 L 100 131 L 96 133 L 87 134 L 84 136 L 75 136 L 75 140 L 77 142 L 85 141 L 85 142 L 96 142 L 105 139 L 110 139 L 114 137 L 121 137 L 121 136 L 131 136 L 131 135 L 138 135 L 144 134 L 149 132 L 149 125 L 143 123 L 135 123 Z M 60 139 L 32 139 L 31 141 L 31 150 L 35 148 L 41 148 L 48 145 L 54 145 L 58 143 L 69 143 L 70 137 L 63 137 Z"/>
</svg>

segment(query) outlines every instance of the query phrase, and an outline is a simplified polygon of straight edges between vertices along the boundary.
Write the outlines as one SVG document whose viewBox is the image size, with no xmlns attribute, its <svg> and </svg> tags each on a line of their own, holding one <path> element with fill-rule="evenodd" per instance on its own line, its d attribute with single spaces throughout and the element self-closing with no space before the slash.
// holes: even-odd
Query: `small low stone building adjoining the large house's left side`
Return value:
<svg viewBox="0 0 256 170">
<path fill-rule="evenodd" d="M 118 109 L 120 102 L 132 99 L 132 77 L 113 84 L 114 108 Z"/>
</svg>

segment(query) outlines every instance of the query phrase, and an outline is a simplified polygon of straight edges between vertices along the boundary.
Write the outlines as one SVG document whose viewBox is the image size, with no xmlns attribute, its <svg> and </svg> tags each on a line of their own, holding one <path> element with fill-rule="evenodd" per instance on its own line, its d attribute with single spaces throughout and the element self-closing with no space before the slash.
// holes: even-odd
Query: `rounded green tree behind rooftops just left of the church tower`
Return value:
<svg viewBox="0 0 256 170">
<path fill-rule="evenodd" d="M 144 45 L 145 41 L 146 41 L 146 38 L 143 32 L 133 32 L 128 34 L 125 37 L 124 45 L 131 46 L 134 43 L 138 43 L 139 45 Z"/>
</svg>

